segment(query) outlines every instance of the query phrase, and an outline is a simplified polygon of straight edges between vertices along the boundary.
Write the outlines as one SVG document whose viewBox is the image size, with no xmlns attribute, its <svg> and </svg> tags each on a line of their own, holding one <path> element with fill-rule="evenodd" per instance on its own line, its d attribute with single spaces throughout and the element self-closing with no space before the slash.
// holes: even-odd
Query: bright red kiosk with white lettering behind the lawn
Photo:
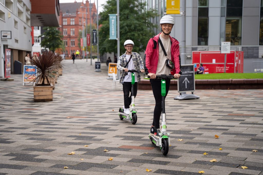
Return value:
<svg viewBox="0 0 263 175">
<path fill-rule="evenodd" d="M 220 51 L 192 51 L 195 71 L 202 63 L 204 73 L 224 73 L 225 54 Z M 226 73 L 243 73 L 244 51 L 231 50 L 226 54 Z"/>
</svg>

